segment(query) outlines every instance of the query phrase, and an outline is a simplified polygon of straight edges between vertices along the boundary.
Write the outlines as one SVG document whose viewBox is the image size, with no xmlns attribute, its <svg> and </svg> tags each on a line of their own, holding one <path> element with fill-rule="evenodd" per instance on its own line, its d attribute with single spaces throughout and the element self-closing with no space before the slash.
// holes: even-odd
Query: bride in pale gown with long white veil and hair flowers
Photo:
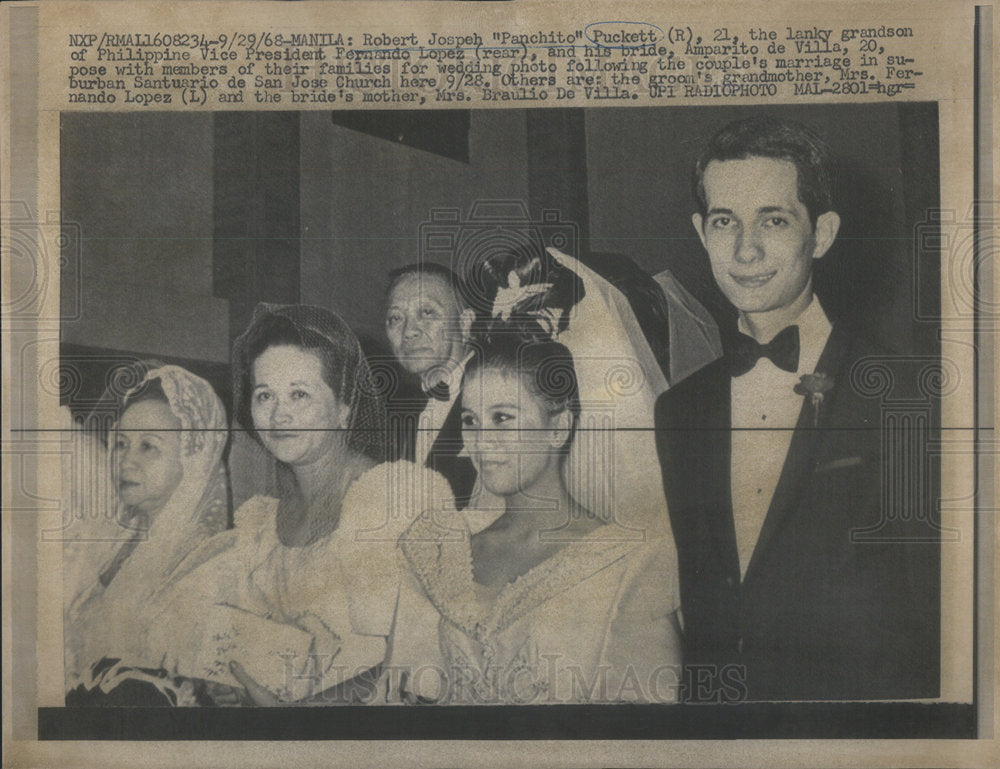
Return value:
<svg viewBox="0 0 1000 769">
<path fill-rule="evenodd" d="M 570 257 L 508 255 L 484 277 L 495 299 L 462 410 L 485 493 L 478 509 L 424 516 L 401 539 L 408 568 L 391 694 L 450 704 L 673 701 L 673 540 L 657 477 L 656 488 L 633 480 L 641 436 L 615 430 L 651 424 L 655 359 L 629 335 L 613 289 Z M 636 367 L 628 389 L 609 376 L 616 365 Z M 596 419 L 602 411 L 610 424 Z M 570 463 L 591 460 L 600 441 L 615 462 L 574 474 Z"/>
</svg>

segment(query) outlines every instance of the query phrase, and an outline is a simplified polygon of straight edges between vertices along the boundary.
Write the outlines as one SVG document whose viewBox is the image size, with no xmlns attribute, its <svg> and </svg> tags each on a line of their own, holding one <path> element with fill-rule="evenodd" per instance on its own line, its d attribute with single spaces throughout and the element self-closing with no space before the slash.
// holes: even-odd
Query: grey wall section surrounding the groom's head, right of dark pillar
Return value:
<svg viewBox="0 0 1000 769">
<path fill-rule="evenodd" d="M 717 315 L 726 312 L 691 226 L 691 167 L 719 126 L 767 113 L 811 126 L 838 165 L 842 223 L 817 266 L 831 315 L 861 314 L 885 341 L 914 344 L 913 227 L 938 205 L 936 105 L 816 105 L 591 110 L 586 113 L 594 250 L 670 269 Z"/>
</svg>

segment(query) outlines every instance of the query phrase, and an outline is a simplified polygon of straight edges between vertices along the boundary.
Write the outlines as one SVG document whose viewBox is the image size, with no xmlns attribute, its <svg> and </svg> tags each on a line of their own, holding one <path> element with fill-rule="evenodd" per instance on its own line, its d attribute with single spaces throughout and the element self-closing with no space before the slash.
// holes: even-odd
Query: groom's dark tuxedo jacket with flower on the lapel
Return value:
<svg viewBox="0 0 1000 769">
<path fill-rule="evenodd" d="M 834 377 L 819 429 L 807 396 L 742 581 L 726 360 L 657 401 L 689 701 L 937 696 L 940 541 L 927 516 L 935 511 L 938 520 L 938 471 L 928 462 L 920 473 L 890 472 L 891 488 L 882 483 L 883 464 L 898 468 L 930 439 L 937 404 L 920 422 L 922 434 L 900 423 L 906 440 L 884 449 L 883 415 L 906 403 L 919 411 L 929 401 L 907 381 L 915 379 L 912 366 L 886 359 L 874 367 L 869 356 L 876 355 L 863 335 L 834 326 L 816 368 Z M 859 382 L 858 369 L 852 383 L 859 363 L 875 379 Z M 860 392 L 890 381 L 883 375 L 892 379 L 881 397 Z"/>
</svg>

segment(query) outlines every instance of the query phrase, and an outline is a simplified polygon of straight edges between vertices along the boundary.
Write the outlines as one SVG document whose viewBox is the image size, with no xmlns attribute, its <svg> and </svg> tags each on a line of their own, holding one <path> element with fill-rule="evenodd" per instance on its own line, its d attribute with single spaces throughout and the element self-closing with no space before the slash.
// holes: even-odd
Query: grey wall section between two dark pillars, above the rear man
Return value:
<svg viewBox="0 0 1000 769">
<path fill-rule="evenodd" d="M 526 200 L 524 112 L 470 115 L 468 162 L 301 116 L 301 301 L 380 340 L 389 270 L 417 261 L 434 209 L 477 198 Z"/>
</svg>

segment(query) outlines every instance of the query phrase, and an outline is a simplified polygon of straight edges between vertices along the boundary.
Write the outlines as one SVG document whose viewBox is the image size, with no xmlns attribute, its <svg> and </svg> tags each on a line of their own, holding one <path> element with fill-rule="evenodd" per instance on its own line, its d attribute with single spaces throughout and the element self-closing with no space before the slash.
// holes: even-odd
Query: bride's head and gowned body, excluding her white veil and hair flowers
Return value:
<svg viewBox="0 0 1000 769">
<path fill-rule="evenodd" d="M 573 355 L 551 338 L 558 318 L 513 309 L 481 338 L 462 386 L 465 450 L 500 504 L 441 511 L 403 535 L 393 694 L 455 705 L 673 701 L 673 540 L 652 526 L 623 536 L 574 498 L 564 473 L 580 414 Z"/>
</svg>

